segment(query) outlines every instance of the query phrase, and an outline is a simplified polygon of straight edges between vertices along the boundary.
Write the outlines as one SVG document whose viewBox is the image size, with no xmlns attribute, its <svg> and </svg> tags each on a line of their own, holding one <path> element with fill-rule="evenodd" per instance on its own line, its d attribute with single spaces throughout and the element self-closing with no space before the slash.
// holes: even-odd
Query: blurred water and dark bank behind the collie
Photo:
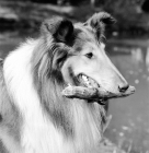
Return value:
<svg viewBox="0 0 149 153">
<path fill-rule="evenodd" d="M 35 37 L 46 17 L 83 22 L 99 11 L 117 20 L 106 31 L 106 50 L 137 90 L 110 102 L 105 137 L 127 153 L 149 153 L 149 0 L 0 0 L 0 58 Z"/>
</svg>

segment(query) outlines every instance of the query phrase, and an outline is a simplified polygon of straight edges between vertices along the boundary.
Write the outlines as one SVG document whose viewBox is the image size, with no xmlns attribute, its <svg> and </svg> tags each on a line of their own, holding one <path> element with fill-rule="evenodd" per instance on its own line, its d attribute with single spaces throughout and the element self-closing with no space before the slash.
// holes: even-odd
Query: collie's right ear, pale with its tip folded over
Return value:
<svg viewBox="0 0 149 153">
<path fill-rule="evenodd" d="M 105 25 L 114 24 L 116 21 L 111 14 L 106 12 L 100 12 L 93 14 L 83 25 L 91 26 L 98 33 L 98 37 L 103 35 Z"/>
</svg>

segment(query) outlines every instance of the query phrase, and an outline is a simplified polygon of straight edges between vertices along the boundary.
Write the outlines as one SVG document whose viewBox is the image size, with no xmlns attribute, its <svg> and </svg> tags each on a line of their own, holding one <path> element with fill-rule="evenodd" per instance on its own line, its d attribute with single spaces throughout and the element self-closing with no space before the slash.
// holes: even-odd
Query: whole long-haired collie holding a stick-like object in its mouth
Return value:
<svg viewBox="0 0 149 153">
<path fill-rule="evenodd" d="M 135 92 L 104 50 L 104 28 L 113 22 L 105 12 L 84 23 L 46 20 L 38 38 L 0 62 L 3 152 L 101 152 L 104 104 Z"/>
</svg>

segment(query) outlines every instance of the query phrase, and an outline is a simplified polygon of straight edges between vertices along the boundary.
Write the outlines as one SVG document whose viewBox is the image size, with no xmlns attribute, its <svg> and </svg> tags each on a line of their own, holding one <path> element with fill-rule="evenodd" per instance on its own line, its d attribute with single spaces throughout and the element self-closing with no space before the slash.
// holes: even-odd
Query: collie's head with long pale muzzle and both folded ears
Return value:
<svg viewBox="0 0 149 153">
<path fill-rule="evenodd" d="M 135 89 L 111 62 L 104 48 L 105 25 L 114 22 L 105 12 L 94 14 L 85 23 L 72 24 L 62 17 L 45 21 L 42 32 L 50 46 L 53 76 L 72 86 L 102 91 L 104 98 L 133 94 Z"/>
</svg>

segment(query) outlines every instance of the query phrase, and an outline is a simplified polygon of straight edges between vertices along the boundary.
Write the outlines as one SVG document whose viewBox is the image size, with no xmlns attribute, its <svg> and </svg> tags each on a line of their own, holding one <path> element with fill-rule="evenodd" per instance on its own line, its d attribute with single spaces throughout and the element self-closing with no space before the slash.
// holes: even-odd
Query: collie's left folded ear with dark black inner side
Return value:
<svg viewBox="0 0 149 153">
<path fill-rule="evenodd" d="M 56 42 L 68 43 L 73 34 L 73 25 L 71 21 L 57 16 L 46 20 L 42 25 L 42 32 L 50 34 Z"/>
</svg>

